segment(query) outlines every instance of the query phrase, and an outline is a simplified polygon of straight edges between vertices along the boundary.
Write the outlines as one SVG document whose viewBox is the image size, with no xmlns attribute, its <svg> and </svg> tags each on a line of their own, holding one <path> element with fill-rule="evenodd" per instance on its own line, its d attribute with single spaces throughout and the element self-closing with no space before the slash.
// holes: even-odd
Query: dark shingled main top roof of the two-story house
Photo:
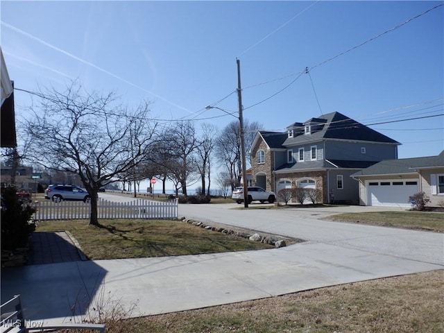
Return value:
<svg viewBox="0 0 444 333">
<path fill-rule="evenodd" d="M 322 122 L 324 121 L 324 122 Z M 344 139 L 353 141 L 381 142 L 386 144 L 400 144 L 399 142 L 377 132 L 339 112 L 323 114 L 318 118 L 311 118 L 305 123 L 314 123 L 316 128 L 311 134 L 302 133 L 288 137 L 284 146 L 316 141 L 319 139 Z"/>
</svg>

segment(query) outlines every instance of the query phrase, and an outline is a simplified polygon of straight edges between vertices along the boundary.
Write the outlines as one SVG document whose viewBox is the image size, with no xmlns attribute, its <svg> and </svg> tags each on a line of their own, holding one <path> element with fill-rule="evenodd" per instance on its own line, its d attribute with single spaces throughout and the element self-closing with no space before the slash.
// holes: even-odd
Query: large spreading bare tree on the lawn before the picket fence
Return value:
<svg viewBox="0 0 444 333">
<path fill-rule="evenodd" d="M 40 96 L 40 108 L 32 108 L 35 117 L 26 123 L 28 158 L 78 175 L 91 197 L 89 223 L 98 225 L 100 187 L 128 174 L 153 144 L 157 124 L 148 121 L 150 103 L 130 110 L 114 93 L 86 92 L 77 82 Z"/>
</svg>

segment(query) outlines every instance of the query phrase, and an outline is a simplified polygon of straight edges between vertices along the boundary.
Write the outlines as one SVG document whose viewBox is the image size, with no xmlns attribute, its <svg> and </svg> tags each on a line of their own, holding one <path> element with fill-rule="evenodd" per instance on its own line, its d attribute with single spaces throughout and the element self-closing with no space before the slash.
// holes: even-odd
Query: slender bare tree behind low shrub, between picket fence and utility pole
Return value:
<svg viewBox="0 0 444 333">
<path fill-rule="evenodd" d="M 211 157 L 214 151 L 215 139 L 217 128 L 216 126 L 204 123 L 202 125 L 202 136 L 199 139 L 197 146 L 197 168 L 200 173 L 200 180 L 202 186 L 200 187 L 200 194 L 205 195 L 205 178 L 208 177 L 208 189 L 207 196 L 210 196 L 210 184 L 211 184 Z"/>
</svg>

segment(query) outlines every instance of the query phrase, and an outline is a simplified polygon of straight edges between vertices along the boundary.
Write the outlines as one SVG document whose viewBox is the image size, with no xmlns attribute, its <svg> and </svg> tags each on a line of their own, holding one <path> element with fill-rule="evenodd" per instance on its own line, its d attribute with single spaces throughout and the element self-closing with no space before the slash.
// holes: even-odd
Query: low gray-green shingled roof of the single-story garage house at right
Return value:
<svg viewBox="0 0 444 333">
<path fill-rule="evenodd" d="M 444 152 L 444 151 L 443 151 Z M 367 169 L 354 173 L 352 177 L 382 176 L 417 173 L 415 169 L 427 167 L 444 167 L 444 154 L 438 156 L 400 158 L 398 160 L 384 160 L 373 164 Z"/>
</svg>

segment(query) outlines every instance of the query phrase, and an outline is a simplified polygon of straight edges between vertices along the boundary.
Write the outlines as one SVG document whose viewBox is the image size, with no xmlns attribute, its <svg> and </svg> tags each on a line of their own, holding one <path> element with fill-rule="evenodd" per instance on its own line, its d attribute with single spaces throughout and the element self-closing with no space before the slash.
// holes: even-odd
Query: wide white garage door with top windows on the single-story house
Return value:
<svg viewBox="0 0 444 333">
<path fill-rule="evenodd" d="M 410 208 L 409 196 L 419 191 L 417 179 L 368 180 L 367 205 Z"/>
</svg>

